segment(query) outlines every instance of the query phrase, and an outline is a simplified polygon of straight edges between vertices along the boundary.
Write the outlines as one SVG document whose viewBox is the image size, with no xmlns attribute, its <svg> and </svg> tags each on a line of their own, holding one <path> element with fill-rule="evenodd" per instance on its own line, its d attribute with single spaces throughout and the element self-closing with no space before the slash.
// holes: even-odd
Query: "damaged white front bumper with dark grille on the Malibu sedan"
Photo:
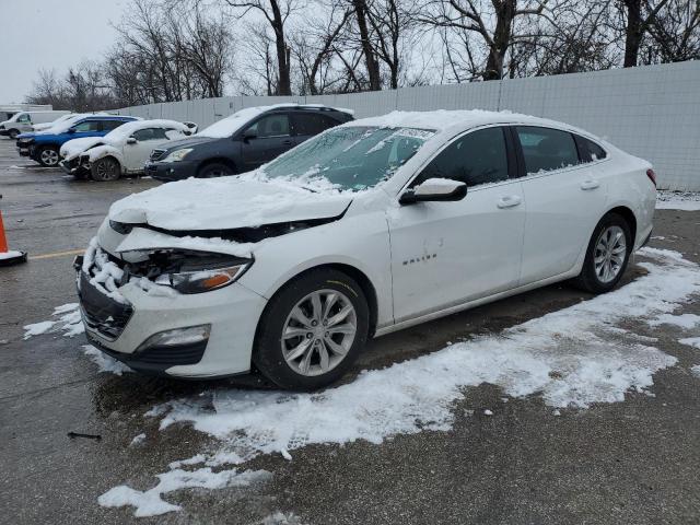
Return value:
<svg viewBox="0 0 700 525">
<path fill-rule="evenodd" d="M 184 378 L 249 370 L 266 304 L 260 295 L 238 283 L 192 295 L 154 294 L 133 281 L 105 293 L 95 280 L 103 269 L 83 262 L 77 258 L 74 268 L 85 334 L 107 355 L 138 372 Z"/>
</svg>

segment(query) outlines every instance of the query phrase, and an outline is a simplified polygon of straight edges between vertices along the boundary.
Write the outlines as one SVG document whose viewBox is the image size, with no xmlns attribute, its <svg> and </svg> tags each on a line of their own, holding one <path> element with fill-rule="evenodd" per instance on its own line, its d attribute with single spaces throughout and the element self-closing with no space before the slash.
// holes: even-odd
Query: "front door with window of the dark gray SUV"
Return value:
<svg viewBox="0 0 700 525">
<path fill-rule="evenodd" d="M 256 136 L 241 139 L 241 158 L 246 172 L 276 159 L 294 145 L 288 113 L 265 115 L 248 126 L 243 135 L 247 130 Z"/>
</svg>

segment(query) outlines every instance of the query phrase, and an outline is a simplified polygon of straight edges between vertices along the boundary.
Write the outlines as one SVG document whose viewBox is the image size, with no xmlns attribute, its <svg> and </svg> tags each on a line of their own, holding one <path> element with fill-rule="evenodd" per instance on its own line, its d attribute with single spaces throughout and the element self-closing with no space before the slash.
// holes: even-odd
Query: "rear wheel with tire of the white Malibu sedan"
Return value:
<svg viewBox="0 0 700 525">
<path fill-rule="evenodd" d="M 615 212 L 604 215 L 593 231 L 575 284 L 591 293 L 612 290 L 625 275 L 633 243 L 630 226 L 622 215 Z"/>
</svg>

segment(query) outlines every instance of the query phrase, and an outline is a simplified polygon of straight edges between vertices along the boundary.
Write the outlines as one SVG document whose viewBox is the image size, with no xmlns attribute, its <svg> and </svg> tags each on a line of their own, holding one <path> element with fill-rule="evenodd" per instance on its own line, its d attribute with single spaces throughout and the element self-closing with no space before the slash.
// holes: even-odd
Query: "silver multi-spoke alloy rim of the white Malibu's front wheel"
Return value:
<svg viewBox="0 0 700 525">
<path fill-rule="evenodd" d="M 282 355 L 298 374 L 325 374 L 346 358 L 357 331 L 352 302 L 337 290 L 317 290 L 288 315 L 280 338 Z"/>
</svg>

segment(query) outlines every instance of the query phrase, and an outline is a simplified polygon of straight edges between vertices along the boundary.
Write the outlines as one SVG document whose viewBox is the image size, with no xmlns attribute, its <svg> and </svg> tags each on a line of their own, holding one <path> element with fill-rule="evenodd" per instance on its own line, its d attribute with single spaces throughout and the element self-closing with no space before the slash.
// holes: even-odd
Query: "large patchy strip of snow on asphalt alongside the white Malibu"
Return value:
<svg viewBox="0 0 700 525">
<path fill-rule="evenodd" d="M 171 472 L 183 476 L 183 465 L 241 465 L 269 453 L 290 458 L 289 451 L 312 443 L 380 444 L 396 434 L 447 431 L 455 401 L 467 387 L 485 382 L 513 397 L 538 395 L 555 409 L 623 401 L 628 392 L 650 394 L 653 374 L 677 359 L 649 346 L 651 338 L 615 324 L 660 319 L 691 301 L 700 293 L 700 267 L 676 252 L 645 248 L 641 255 L 653 260 L 639 265 L 649 273 L 615 292 L 364 372 L 350 384 L 315 394 L 219 388 L 153 407 L 145 416 L 162 418 L 163 431 L 186 422 L 221 440 L 220 451 L 175 462 L 161 479 Z M 107 492 L 100 502 L 133 505 L 137 515 L 151 505 L 175 510 L 159 501 L 165 493 L 162 483 L 145 492 L 113 489 L 117 492 Z"/>
</svg>

